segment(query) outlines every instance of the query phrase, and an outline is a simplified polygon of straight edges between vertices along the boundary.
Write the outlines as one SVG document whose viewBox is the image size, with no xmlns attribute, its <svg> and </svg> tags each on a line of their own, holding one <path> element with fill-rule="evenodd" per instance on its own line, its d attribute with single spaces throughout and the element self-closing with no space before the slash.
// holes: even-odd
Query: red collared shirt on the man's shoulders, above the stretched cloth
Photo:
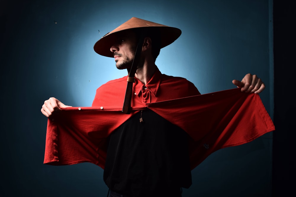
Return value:
<svg viewBox="0 0 296 197">
<path fill-rule="evenodd" d="M 103 84 L 96 90 L 93 107 L 122 107 L 126 93 L 127 76 Z M 156 71 L 150 81 L 144 85 L 138 79 L 133 84 L 131 106 L 145 106 L 146 103 L 159 102 L 189 96 L 200 95 L 193 83 L 181 77 L 173 77 Z"/>
</svg>

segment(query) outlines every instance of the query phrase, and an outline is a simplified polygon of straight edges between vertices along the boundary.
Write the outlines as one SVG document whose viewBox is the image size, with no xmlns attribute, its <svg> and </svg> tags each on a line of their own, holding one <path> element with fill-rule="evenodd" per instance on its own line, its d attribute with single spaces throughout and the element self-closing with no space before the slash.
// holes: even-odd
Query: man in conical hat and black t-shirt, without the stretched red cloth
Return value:
<svg viewBox="0 0 296 197">
<path fill-rule="evenodd" d="M 155 65 L 160 48 L 180 35 L 177 28 L 133 17 L 98 40 L 94 45 L 98 54 L 114 57 L 116 67 L 127 69 L 128 74 L 136 66 L 136 72 L 134 78 L 132 74 L 99 87 L 92 106 L 121 106 L 127 81 L 133 82 L 133 107 L 200 95 L 194 84 L 161 74 Z M 139 56 L 136 65 L 135 56 Z M 232 82 L 247 93 L 258 94 L 265 88 L 261 79 L 251 74 Z M 41 112 L 50 117 L 66 107 L 70 106 L 52 97 L 44 102 Z M 104 181 L 110 196 L 181 196 L 180 188 L 191 185 L 189 140 L 186 132 L 152 110 L 133 115 L 108 138 Z"/>
</svg>

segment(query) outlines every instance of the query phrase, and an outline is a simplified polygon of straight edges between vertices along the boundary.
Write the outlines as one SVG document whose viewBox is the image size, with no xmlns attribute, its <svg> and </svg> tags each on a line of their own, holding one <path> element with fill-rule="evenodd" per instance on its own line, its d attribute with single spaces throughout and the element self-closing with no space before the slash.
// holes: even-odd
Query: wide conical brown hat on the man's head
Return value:
<svg viewBox="0 0 296 197">
<path fill-rule="evenodd" d="M 155 28 L 159 32 L 160 48 L 170 45 L 181 35 L 181 30 L 176 27 L 169 27 L 133 17 L 98 40 L 94 45 L 94 51 L 102 56 L 113 57 L 114 53 L 110 51 L 110 48 L 114 44 L 118 32 L 137 28 Z"/>
</svg>

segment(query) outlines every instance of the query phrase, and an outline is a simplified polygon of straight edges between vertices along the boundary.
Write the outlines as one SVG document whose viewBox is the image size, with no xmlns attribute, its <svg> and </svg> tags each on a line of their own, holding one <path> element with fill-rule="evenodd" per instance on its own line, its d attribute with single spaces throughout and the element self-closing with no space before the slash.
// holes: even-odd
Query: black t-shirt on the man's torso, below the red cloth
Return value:
<svg viewBox="0 0 296 197">
<path fill-rule="evenodd" d="M 187 133 L 152 110 L 133 115 L 110 135 L 104 181 L 131 196 L 176 195 L 189 188 Z"/>
</svg>

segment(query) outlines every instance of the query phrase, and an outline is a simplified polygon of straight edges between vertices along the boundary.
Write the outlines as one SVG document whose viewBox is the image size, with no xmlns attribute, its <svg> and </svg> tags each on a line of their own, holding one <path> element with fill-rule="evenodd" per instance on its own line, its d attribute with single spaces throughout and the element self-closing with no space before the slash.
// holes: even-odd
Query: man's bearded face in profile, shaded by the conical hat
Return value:
<svg viewBox="0 0 296 197">
<path fill-rule="evenodd" d="M 118 69 L 130 69 L 136 52 L 136 36 L 134 32 L 126 31 L 118 35 L 110 51 L 114 53 Z"/>
</svg>

